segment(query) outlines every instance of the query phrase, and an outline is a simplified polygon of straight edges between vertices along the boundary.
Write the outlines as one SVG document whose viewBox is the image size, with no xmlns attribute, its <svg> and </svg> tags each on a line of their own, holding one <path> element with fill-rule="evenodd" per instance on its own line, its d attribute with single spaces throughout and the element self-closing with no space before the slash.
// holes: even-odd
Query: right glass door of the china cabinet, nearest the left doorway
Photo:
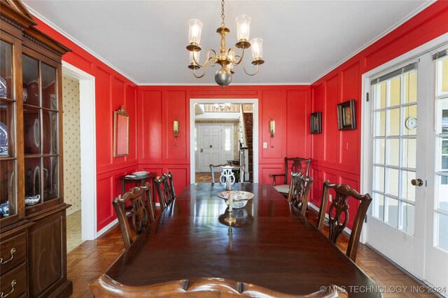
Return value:
<svg viewBox="0 0 448 298">
<path fill-rule="evenodd" d="M 25 206 L 33 206 L 59 197 L 57 69 L 27 55 L 22 67 Z"/>
</svg>

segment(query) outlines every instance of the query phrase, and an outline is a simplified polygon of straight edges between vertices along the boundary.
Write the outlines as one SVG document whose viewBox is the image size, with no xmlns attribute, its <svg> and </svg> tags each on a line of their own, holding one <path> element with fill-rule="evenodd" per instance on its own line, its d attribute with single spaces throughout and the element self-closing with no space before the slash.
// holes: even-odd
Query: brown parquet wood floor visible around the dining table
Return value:
<svg viewBox="0 0 448 298">
<path fill-rule="evenodd" d="M 316 222 L 317 213 L 310 208 L 307 215 L 311 222 Z M 343 234 L 338 246 L 346 250 L 349 235 Z M 73 281 L 71 297 L 93 297 L 89 290 L 90 279 L 103 274 L 116 258 L 125 250 L 120 227 L 118 225 L 92 241 L 84 241 L 68 254 L 68 278 Z M 435 297 L 426 292 L 410 289 L 421 285 L 378 255 L 374 250 L 360 243 L 356 264 L 370 276 L 379 287 L 384 287 L 384 297 Z M 408 287 L 408 288 L 405 288 Z M 400 292 L 398 292 L 400 291 Z"/>
</svg>

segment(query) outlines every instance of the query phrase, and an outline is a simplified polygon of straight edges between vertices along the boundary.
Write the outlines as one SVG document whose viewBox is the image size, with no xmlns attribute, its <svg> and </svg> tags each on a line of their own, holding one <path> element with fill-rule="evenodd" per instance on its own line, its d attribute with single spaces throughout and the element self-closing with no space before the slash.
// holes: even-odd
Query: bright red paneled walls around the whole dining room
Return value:
<svg viewBox="0 0 448 298">
<path fill-rule="evenodd" d="M 141 86 L 121 76 L 48 25 L 38 28 L 73 52 L 63 59 L 96 78 L 97 228 L 116 218 L 111 200 L 120 194 L 119 177 L 136 169 L 172 171 L 176 192 L 190 182 L 189 101 L 194 99 L 259 100 L 259 180 L 281 173 L 286 156 L 312 157 L 311 202 L 319 205 L 323 180 L 360 186 L 361 74 L 448 31 L 448 1 L 437 1 L 384 38 L 361 51 L 311 86 Z M 336 104 L 356 99 L 358 129 L 337 130 Z M 113 157 L 113 111 L 125 104 L 130 114 L 130 155 Z M 323 134 L 309 134 L 309 113 L 323 112 Z M 276 120 L 274 148 L 268 123 Z M 173 120 L 180 133 L 174 146 Z M 356 208 L 351 208 L 351 213 Z M 351 218 L 354 218 L 352 215 Z M 349 225 L 351 226 L 351 225 Z"/>
</svg>

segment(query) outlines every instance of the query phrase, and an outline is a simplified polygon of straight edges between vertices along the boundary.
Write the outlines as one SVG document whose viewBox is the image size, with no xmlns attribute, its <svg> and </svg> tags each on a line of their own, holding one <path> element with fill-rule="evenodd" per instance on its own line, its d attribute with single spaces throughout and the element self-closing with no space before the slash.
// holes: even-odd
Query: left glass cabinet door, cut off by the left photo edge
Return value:
<svg viewBox="0 0 448 298">
<path fill-rule="evenodd" d="M 0 40 L 0 219 L 17 214 L 13 44 Z"/>
</svg>

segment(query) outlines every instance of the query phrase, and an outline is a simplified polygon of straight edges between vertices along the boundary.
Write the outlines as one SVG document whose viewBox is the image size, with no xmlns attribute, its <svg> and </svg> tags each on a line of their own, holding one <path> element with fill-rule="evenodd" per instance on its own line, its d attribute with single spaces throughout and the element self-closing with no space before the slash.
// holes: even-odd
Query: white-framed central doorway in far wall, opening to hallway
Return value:
<svg viewBox="0 0 448 298">
<path fill-rule="evenodd" d="M 243 116 L 239 114 L 243 110 L 233 111 L 237 116 L 228 118 L 224 117 L 223 113 L 218 115 L 220 110 L 231 109 L 234 108 L 233 106 L 239 108 L 241 105 L 251 106 L 251 127 L 253 127 L 251 129 L 253 150 L 250 155 L 251 180 L 258 182 L 258 99 L 190 99 L 191 183 L 197 182 L 197 173 L 209 175 L 209 164 L 225 164 L 240 160 L 248 164 L 248 154 L 244 156 L 240 154 L 240 134 L 245 129 L 241 127 Z M 214 112 L 218 113 L 204 113 L 206 106 L 209 106 L 210 110 L 216 109 Z M 199 114 L 204 115 L 197 116 Z"/>
</svg>

